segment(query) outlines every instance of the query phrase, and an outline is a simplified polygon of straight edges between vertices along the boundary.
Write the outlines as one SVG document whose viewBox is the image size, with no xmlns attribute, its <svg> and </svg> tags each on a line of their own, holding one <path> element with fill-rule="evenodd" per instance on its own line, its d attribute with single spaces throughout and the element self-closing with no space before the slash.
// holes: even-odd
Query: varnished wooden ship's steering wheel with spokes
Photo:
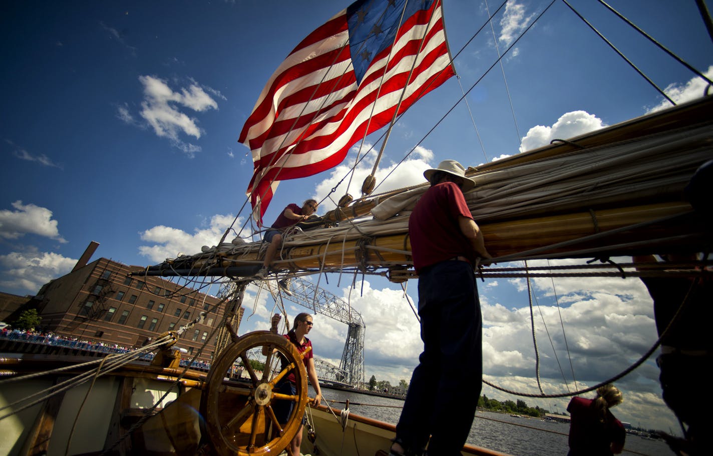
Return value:
<svg viewBox="0 0 713 456">
<path fill-rule="evenodd" d="M 256 370 L 259 363 L 265 364 L 262 372 Z M 240 368 L 247 378 L 239 379 Z M 275 388 L 289 373 L 297 380 L 296 395 Z M 287 338 L 270 331 L 235 338 L 212 363 L 206 381 L 200 400 L 202 431 L 218 455 L 277 455 L 299 430 L 307 404 L 307 371 Z M 284 425 L 275 417 L 281 401 L 294 403 Z"/>
</svg>

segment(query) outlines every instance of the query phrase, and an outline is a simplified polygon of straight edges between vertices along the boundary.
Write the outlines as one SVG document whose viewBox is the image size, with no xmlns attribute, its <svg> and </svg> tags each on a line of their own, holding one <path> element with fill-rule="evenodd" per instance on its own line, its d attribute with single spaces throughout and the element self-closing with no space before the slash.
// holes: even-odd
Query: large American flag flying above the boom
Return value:
<svg viewBox="0 0 713 456">
<path fill-rule="evenodd" d="M 255 167 L 253 217 L 262 225 L 279 180 L 339 165 L 356 141 L 391 122 L 404 86 L 399 114 L 453 74 L 441 0 L 356 1 L 310 33 L 267 81 L 240 133 Z"/>
</svg>

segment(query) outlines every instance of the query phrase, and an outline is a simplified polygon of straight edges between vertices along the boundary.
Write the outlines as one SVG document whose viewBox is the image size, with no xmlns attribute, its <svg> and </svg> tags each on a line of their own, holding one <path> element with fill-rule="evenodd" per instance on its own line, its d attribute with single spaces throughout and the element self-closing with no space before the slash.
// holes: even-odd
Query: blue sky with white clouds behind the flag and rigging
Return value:
<svg viewBox="0 0 713 456">
<path fill-rule="evenodd" d="M 95 258 L 141 266 L 215 244 L 245 202 L 252 163 L 237 137 L 257 95 L 287 53 L 348 3 L 2 2 L 0 290 L 34 294 L 41 284 L 69 271 L 92 240 L 101 244 Z M 495 61 L 495 43 L 501 52 L 508 48 L 548 3 L 511 1 L 498 13 L 493 31 L 488 26 L 487 33 L 476 36 L 456 58 L 464 90 Z M 672 98 L 702 94 L 703 84 L 692 73 L 645 43 L 600 4 L 570 3 Z M 610 4 L 694 67 L 710 73 L 713 46 L 693 0 Z M 489 1 L 488 6 L 495 11 L 500 4 Z M 486 4 L 446 0 L 444 17 L 455 54 L 485 23 Z M 478 165 L 518 153 L 520 147 L 538 147 L 551 138 L 643 115 L 663 100 L 560 0 L 502 63 L 502 69 L 494 67 L 468 94 L 484 152 L 464 103 L 419 143 L 461 98 L 458 79 L 451 78 L 399 121 L 377 178 L 419 147 L 380 190 L 422 182 L 423 170 L 441 160 Z M 378 136 L 367 141 L 373 144 Z M 366 167 L 371 168 L 369 160 L 373 162 L 370 157 L 359 167 L 352 195 L 361 187 Z M 322 199 L 346 169 L 282 182 L 265 222 L 272 222 L 289 202 Z M 339 189 L 337 198 L 343 194 Z M 329 203 L 319 213 L 327 209 Z M 245 217 L 247 212 L 240 214 L 240 222 Z M 347 296 L 344 281 L 342 288 L 330 282 L 335 294 Z M 549 306 L 545 314 L 555 309 L 548 283 L 535 286 L 540 303 Z M 357 287 L 352 303 L 361 309 L 367 325 L 367 378 L 375 374 L 392 383 L 408 380 L 420 350 L 414 316 L 393 284 L 369 279 L 365 289 L 363 296 L 355 297 Z M 414 281 L 409 288 L 412 299 L 415 289 Z M 555 289 L 563 296 L 560 305 L 569 313 L 565 318 L 570 318 L 573 337 L 583 341 L 580 372 L 590 385 L 603 376 L 600 364 L 590 358 L 593 353 L 616 355 L 600 357 L 609 363 L 609 375 L 655 339 L 650 300 L 637 281 L 612 285 L 593 280 L 585 290 L 563 280 Z M 484 366 L 491 375 L 487 378 L 531 390 L 533 349 L 527 340 L 522 283 L 491 281 L 481 286 L 481 294 Z M 272 304 L 263 297 L 254 306 L 255 316 L 246 327 L 267 326 Z M 317 356 L 338 363 L 345 328 L 319 316 L 315 322 Z M 618 332 L 616 325 L 623 325 Z M 597 351 L 593 344 L 598 339 L 588 333 L 593 327 L 643 342 L 607 346 L 600 341 Z M 619 414 L 632 423 L 674 427 L 657 400 L 655 366 L 649 363 L 639 372 L 622 380 L 632 400 L 630 408 L 620 407 Z M 553 389 L 563 388 L 558 375 L 550 375 Z M 485 391 L 491 397 L 505 397 Z M 559 408 L 564 405 L 560 400 Z"/>
</svg>

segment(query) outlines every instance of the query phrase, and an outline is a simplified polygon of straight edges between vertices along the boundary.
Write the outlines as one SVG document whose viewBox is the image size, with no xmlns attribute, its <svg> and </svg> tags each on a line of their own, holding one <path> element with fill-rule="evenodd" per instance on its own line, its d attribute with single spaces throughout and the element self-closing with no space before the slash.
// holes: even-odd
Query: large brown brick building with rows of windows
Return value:
<svg viewBox="0 0 713 456">
<path fill-rule="evenodd" d="M 148 337 L 178 330 L 220 302 L 160 277 L 128 276 L 137 270 L 140 267 L 106 258 L 85 265 L 80 260 L 73 271 L 43 285 L 35 296 L 42 318 L 38 329 L 134 348 Z M 222 304 L 195 323 L 180 336 L 178 347 L 185 348 L 188 356 L 198 353 L 224 311 Z M 197 359 L 210 362 L 214 350 L 215 334 Z"/>
</svg>

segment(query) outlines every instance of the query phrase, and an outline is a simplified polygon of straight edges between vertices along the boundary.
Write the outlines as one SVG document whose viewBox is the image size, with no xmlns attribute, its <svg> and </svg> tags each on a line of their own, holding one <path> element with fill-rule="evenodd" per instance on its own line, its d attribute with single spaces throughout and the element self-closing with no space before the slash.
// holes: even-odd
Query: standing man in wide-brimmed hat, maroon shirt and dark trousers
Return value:
<svg viewBox="0 0 713 456">
<path fill-rule="evenodd" d="M 431 188 L 409 217 L 424 351 L 396 425 L 395 456 L 420 455 L 426 444 L 430 455 L 460 455 L 481 393 L 481 306 L 473 267 L 491 255 L 463 197 L 475 182 L 454 160 L 424 177 Z M 453 407 L 456 391 L 465 394 Z"/>
</svg>

